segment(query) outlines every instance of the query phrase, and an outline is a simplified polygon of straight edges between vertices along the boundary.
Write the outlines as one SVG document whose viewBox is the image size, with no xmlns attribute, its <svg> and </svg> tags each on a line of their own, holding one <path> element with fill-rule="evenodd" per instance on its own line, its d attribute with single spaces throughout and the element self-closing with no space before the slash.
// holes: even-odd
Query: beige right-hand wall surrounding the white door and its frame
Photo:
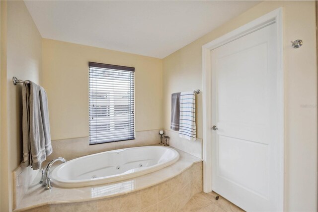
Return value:
<svg viewBox="0 0 318 212">
<path fill-rule="evenodd" d="M 164 128 L 169 129 L 170 95 L 202 89 L 202 45 L 283 7 L 285 70 L 285 210 L 317 210 L 317 64 L 315 1 L 263 1 L 163 59 Z M 300 49 L 290 41 L 303 39 Z M 204 91 L 203 91 L 204 92 Z M 302 108 L 302 104 L 314 105 Z M 198 95 L 198 137 L 202 99 Z M 203 141 L 207 142 L 207 141 Z"/>
</svg>

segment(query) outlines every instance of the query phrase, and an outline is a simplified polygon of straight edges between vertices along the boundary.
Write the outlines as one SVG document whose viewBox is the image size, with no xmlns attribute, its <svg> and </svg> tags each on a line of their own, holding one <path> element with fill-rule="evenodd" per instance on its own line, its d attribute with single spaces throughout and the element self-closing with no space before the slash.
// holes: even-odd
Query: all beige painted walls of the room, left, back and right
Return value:
<svg viewBox="0 0 318 212">
<path fill-rule="evenodd" d="M 88 136 L 88 61 L 133 66 L 136 131 L 162 126 L 169 129 L 171 93 L 202 90 L 202 45 L 281 6 L 284 10 L 285 211 L 316 211 L 317 108 L 300 107 L 317 103 L 315 1 L 261 2 L 163 60 L 42 40 L 23 1 L 1 1 L 0 211 L 11 209 L 11 171 L 18 166 L 22 152 L 21 86 L 12 85 L 13 76 L 45 87 L 51 135 L 55 140 Z M 298 38 L 304 40 L 304 46 L 292 49 L 290 41 Z M 197 97 L 198 137 L 202 138 L 202 95 Z"/>
</svg>

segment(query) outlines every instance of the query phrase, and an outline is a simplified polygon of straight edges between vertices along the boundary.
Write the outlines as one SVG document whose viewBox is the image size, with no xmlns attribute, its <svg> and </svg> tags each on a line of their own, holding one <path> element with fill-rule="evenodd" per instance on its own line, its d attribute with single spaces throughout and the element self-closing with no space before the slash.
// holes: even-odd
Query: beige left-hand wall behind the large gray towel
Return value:
<svg viewBox="0 0 318 212">
<path fill-rule="evenodd" d="M 7 4 L 6 8 L 2 9 L 1 1 L 1 13 L 6 12 L 3 25 L 1 16 L 1 212 L 11 210 L 11 173 L 22 156 L 22 87 L 14 86 L 12 77 L 40 84 L 42 67 L 42 37 L 24 2 L 7 1 L 4 4 Z M 6 39 L 2 40 L 2 35 Z"/>
</svg>

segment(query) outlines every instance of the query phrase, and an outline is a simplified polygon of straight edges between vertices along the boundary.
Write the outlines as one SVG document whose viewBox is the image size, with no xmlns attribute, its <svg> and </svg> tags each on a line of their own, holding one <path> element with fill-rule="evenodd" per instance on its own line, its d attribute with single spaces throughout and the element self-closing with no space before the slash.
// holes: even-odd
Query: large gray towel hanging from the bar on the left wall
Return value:
<svg viewBox="0 0 318 212">
<path fill-rule="evenodd" d="M 45 90 L 31 82 L 23 84 L 23 161 L 21 167 L 41 168 L 52 153 L 48 100 Z"/>
</svg>

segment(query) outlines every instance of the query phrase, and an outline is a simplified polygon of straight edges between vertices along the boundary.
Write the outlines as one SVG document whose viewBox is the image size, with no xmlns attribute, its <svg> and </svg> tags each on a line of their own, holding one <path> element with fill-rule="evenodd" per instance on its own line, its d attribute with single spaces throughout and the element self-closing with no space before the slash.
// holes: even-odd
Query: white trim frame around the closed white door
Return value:
<svg viewBox="0 0 318 212">
<path fill-rule="evenodd" d="M 260 28 L 276 23 L 277 38 L 277 95 L 278 95 L 278 117 L 279 130 L 279 149 L 280 160 L 277 165 L 280 167 L 279 193 L 281 210 L 284 207 L 284 67 L 283 67 L 283 22 L 282 7 L 275 9 L 205 45 L 202 46 L 202 88 L 203 91 L 203 191 L 212 191 L 212 143 L 216 140 L 216 133 L 210 129 L 212 123 L 212 81 L 211 81 L 211 50 L 218 48 L 226 43 L 236 40 L 246 34 L 252 33 Z M 210 142 L 211 141 L 211 142 Z"/>
</svg>

